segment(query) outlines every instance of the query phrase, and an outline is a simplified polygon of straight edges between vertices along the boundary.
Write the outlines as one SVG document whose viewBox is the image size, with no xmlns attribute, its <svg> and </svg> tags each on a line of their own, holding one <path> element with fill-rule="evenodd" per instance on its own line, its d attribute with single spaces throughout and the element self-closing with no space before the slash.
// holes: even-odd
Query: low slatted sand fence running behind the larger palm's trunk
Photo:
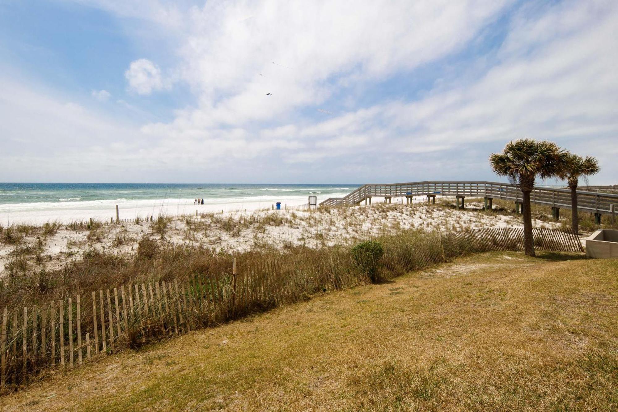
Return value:
<svg viewBox="0 0 618 412">
<path fill-rule="evenodd" d="M 582 242 L 571 229 L 532 229 L 536 249 L 552 252 L 583 252 Z M 523 228 L 481 228 L 454 232 L 481 250 L 523 251 Z"/>
</svg>

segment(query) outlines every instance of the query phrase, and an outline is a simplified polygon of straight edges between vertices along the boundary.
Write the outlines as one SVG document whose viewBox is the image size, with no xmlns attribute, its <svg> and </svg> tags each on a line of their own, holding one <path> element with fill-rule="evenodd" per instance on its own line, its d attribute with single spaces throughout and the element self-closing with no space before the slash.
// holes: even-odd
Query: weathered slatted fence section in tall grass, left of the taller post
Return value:
<svg viewBox="0 0 618 412">
<path fill-rule="evenodd" d="M 215 277 L 179 285 L 175 279 L 93 291 L 87 299 L 78 294 L 23 311 L 5 308 L 0 385 L 19 385 L 46 369 L 75 367 L 132 341 L 186 332 L 204 316 L 218 319 L 230 296 L 227 283 Z"/>
</svg>

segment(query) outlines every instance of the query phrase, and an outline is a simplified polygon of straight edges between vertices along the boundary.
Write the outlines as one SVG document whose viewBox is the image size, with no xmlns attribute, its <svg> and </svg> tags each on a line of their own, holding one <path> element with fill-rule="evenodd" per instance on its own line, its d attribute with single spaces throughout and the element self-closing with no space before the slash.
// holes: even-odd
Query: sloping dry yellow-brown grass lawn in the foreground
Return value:
<svg viewBox="0 0 618 412">
<path fill-rule="evenodd" d="M 494 252 L 109 356 L 9 410 L 616 410 L 618 261 Z"/>
</svg>

